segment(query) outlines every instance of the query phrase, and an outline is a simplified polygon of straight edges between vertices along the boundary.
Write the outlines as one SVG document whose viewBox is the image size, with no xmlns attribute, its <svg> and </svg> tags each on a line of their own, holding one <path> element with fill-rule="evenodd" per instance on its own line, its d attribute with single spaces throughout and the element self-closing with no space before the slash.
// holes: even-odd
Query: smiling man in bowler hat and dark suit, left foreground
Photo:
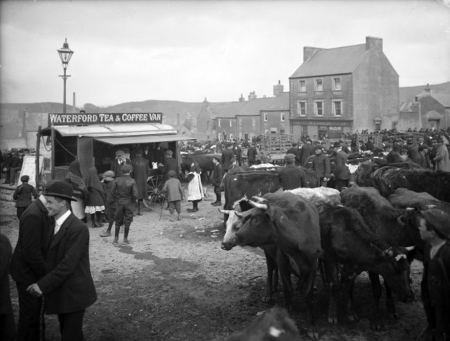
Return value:
<svg viewBox="0 0 450 341">
<path fill-rule="evenodd" d="M 48 241 L 47 273 L 27 291 L 44 295 L 46 313 L 58 315 L 62 341 L 81 341 L 84 311 L 97 299 L 89 265 L 89 230 L 70 210 L 75 199 L 69 183 L 53 181 L 44 195 L 55 228 Z"/>
</svg>

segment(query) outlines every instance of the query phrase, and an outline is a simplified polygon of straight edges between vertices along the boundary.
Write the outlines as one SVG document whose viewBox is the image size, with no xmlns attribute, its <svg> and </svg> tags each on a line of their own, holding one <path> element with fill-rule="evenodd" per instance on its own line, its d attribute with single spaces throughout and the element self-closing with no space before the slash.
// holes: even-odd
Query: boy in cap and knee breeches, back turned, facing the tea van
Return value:
<svg viewBox="0 0 450 341">
<path fill-rule="evenodd" d="M 116 215 L 114 222 L 116 223 L 116 230 L 114 231 L 113 244 L 118 243 L 120 226 L 125 225 L 123 232 L 123 243 L 128 244 L 129 226 L 133 221 L 134 203 L 138 198 L 138 187 L 134 178 L 129 176 L 132 172 L 132 166 L 125 164 L 121 168 L 123 176 L 120 176 L 114 181 L 111 187 L 111 196 L 116 201 Z"/>
</svg>

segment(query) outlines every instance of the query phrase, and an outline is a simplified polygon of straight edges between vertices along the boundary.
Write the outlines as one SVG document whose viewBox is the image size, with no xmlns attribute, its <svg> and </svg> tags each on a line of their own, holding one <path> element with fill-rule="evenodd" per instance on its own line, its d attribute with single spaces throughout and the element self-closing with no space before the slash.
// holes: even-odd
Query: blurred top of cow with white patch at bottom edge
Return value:
<svg viewBox="0 0 450 341">
<path fill-rule="evenodd" d="M 226 341 L 249 341 L 249 340 L 278 340 L 298 341 L 300 334 L 287 311 L 274 306 L 265 311 L 252 322 L 244 331 L 231 335 Z"/>
</svg>

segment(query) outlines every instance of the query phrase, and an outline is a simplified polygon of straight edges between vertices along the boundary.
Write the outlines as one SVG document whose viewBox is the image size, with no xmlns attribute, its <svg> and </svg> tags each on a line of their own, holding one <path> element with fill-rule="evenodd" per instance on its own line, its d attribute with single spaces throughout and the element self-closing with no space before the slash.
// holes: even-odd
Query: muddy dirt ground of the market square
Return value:
<svg viewBox="0 0 450 341">
<path fill-rule="evenodd" d="M 208 187 L 212 193 L 212 188 Z M 15 246 L 19 222 L 15 216 L 12 192 L 1 190 L 0 230 Z M 91 272 L 98 300 L 84 317 L 86 340 L 226 340 L 248 326 L 258 313 L 271 306 L 262 302 L 266 264 L 255 248 L 220 248 L 223 216 L 210 205 L 212 198 L 199 203 L 199 212 L 190 214 L 191 203 L 181 204 L 181 221 L 170 222 L 169 212 L 157 205 L 135 216 L 129 233 L 131 243 L 111 244 L 112 237 L 99 236 L 103 228 L 89 228 Z M 386 317 L 384 295 L 381 313 L 385 329 L 370 330 L 370 282 L 365 274 L 354 290 L 359 322 L 345 320 L 343 308 L 339 324 L 327 324 L 327 291 L 317 278 L 315 292 L 316 324 L 321 340 L 414 340 L 425 326 L 420 302 L 422 264 L 412 269 L 417 302 L 396 302 L 399 320 Z M 19 306 L 14 283 L 10 282 L 12 305 Z M 289 315 L 296 322 L 302 339 L 305 333 L 305 304 L 294 297 Z M 277 295 L 282 304 L 282 295 Z M 57 317 L 46 316 L 47 340 L 59 340 Z"/>
</svg>

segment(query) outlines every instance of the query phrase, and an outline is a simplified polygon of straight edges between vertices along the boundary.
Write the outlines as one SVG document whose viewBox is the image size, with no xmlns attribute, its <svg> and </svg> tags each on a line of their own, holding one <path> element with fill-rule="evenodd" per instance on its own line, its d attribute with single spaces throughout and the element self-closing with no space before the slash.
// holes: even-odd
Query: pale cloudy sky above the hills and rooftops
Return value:
<svg viewBox="0 0 450 341">
<path fill-rule="evenodd" d="M 450 0 L 0 0 L 0 102 L 237 101 L 289 91 L 303 47 L 383 39 L 400 86 L 450 81 Z"/>
</svg>

